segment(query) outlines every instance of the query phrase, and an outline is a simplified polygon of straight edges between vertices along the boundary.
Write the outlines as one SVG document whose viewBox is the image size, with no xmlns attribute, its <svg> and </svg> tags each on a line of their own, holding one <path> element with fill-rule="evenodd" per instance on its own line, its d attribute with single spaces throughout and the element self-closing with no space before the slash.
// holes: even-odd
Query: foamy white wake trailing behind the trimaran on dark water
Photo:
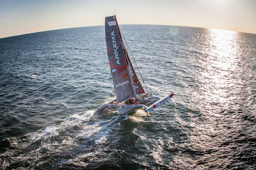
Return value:
<svg viewBox="0 0 256 170">
<path fill-rule="evenodd" d="M 8 150 L 0 154 L 1 168 L 56 169 L 71 162 L 86 167 L 79 160 L 106 154 L 102 150 L 108 144 L 109 133 L 125 119 L 120 115 L 99 119 L 95 112 L 74 114 L 59 125 L 7 139 Z"/>
</svg>

